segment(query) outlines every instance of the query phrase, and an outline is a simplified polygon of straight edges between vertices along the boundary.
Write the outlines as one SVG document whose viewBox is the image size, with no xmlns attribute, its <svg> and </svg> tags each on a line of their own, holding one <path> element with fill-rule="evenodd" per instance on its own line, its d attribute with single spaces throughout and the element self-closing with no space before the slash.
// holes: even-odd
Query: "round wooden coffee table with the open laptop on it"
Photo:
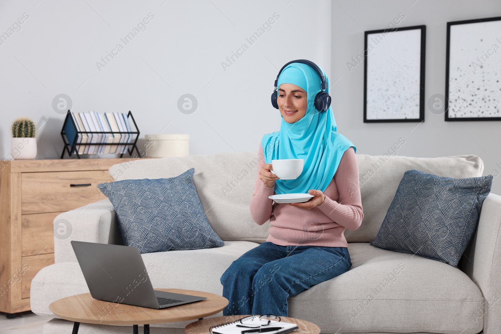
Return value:
<svg viewBox="0 0 501 334">
<path fill-rule="evenodd" d="M 144 333 L 149 334 L 151 323 L 202 319 L 204 316 L 219 312 L 228 304 L 228 299 L 209 292 L 184 289 L 157 290 L 191 294 L 207 299 L 155 309 L 97 300 L 92 298 L 90 293 L 83 293 L 56 300 L 49 305 L 49 309 L 60 318 L 75 322 L 73 334 L 78 333 L 80 322 L 133 325 L 135 334 L 138 332 L 138 325 L 143 324 Z"/>
</svg>

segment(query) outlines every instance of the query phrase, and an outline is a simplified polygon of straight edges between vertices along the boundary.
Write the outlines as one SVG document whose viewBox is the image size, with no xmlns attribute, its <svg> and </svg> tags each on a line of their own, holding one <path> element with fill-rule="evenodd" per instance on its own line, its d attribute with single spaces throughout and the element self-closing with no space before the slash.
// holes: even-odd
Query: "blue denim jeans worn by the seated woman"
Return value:
<svg viewBox="0 0 501 334">
<path fill-rule="evenodd" d="M 347 247 L 281 246 L 263 242 L 234 260 L 220 278 L 223 315 L 287 316 L 287 298 L 351 267 Z"/>
</svg>

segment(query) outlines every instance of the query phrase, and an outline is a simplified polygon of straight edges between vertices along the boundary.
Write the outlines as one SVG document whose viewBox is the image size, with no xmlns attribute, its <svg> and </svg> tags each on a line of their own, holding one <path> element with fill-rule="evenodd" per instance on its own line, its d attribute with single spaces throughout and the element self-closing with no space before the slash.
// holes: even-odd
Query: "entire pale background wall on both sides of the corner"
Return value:
<svg viewBox="0 0 501 334">
<path fill-rule="evenodd" d="M 341 77 L 331 89 L 334 113 L 357 153 L 383 154 L 404 138 L 400 155 L 475 154 L 484 175 L 501 172 L 499 121 L 444 122 L 426 109 L 417 128 L 363 123 L 363 65 L 351 72 L 346 66 L 363 51 L 364 31 L 385 28 L 404 13 L 401 27 L 427 28 L 425 101 L 444 94 L 446 22 L 501 16 L 501 3 L 494 0 L 11 0 L 0 2 L 0 34 L 23 13 L 30 18 L 0 45 L 2 158 L 8 157 L 10 125 L 19 116 L 32 117 L 39 127 L 37 158 L 59 158 L 64 116 L 52 109 L 52 100 L 61 93 L 72 98 L 75 112 L 132 110 L 141 137 L 188 133 L 190 154 L 255 150 L 263 134 L 280 127 L 270 104 L 278 68 L 306 58 L 324 68 L 331 84 Z M 155 17 L 146 31 L 99 71 L 96 62 L 123 44 L 120 39 L 148 13 Z M 280 18 L 271 30 L 254 45 L 246 42 L 274 13 Z M 221 62 L 243 43 L 249 49 L 224 71 Z M 199 104 L 190 115 L 177 109 L 186 93 Z M 501 194 L 497 179 L 492 192 Z"/>
</svg>

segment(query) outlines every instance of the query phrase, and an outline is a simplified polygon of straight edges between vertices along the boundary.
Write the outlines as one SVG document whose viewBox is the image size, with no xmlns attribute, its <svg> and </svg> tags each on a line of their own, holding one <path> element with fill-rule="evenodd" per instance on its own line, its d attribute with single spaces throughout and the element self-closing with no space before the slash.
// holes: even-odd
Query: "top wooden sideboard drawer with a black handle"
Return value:
<svg viewBox="0 0 501 334">
<path fill-rule="evenodd" d="M 22 173 L 21 180 L 22 214 L 73 210 L 105 198 L 96 186 L 113 181 L 107 170 Z"/>
</svg>

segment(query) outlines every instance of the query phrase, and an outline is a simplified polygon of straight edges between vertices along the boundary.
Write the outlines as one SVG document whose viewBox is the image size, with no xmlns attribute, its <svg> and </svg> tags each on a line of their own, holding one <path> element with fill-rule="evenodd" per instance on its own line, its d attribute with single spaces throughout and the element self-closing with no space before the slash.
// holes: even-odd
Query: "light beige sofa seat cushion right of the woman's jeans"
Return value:
<svg viewBox="0 0 501 334">
<path fill-rule="evenodd" d="M 457 267 L 348 243 L 349 271 L 289 298 L 289 316 L 327 333 L 462 333 L 483 327 L 483 296 Z"/>
</svg>

